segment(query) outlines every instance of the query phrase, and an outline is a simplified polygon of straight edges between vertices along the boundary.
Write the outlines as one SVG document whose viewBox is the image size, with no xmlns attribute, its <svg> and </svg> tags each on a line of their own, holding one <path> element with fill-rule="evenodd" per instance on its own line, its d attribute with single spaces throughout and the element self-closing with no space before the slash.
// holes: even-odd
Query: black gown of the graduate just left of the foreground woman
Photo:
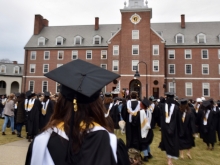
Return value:
<svg viewBox="0 0 220 165">
<path fill-rule="evenodd" d="M 46 126 L 46 124 L 49 122 L 50 117 L 53 114 L 53 110 L 54 110 L 54 103 L 50 100 L 47 105 L 46 114 L 43 115 L 40 112 L 40 124 L 39 124 L 40 130 L 42 130 Z"/>
</svg>

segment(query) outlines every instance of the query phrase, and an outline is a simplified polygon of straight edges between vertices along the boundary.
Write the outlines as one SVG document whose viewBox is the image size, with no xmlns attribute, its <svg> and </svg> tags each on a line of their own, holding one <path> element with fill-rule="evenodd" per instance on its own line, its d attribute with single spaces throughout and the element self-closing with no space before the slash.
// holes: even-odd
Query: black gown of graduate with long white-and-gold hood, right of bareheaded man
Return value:
<svg viewBox="0 0 220 165">
<path fill-rule="evenodd" d="M 151 113 L 151 112 L 149 112 Z M 140 124 L 140 111 L 137 113 L 136 116 L 132 117 L 132 123 L 133 125 L 137 126 L 137 132 L 138 132 L 138 146 L 139 148 L 136 148 L 140 151 L 146 150 L 148 148 L 148 146 L 152 143 L 153 138 L 154 138 L 154 132 L 152 129 L 149 129 L 147 137 L 146 138 L 142 138 L 141 137 L 141 124 Z M 151 120 L 152 122 L 152 120 Z"/>
</svg>

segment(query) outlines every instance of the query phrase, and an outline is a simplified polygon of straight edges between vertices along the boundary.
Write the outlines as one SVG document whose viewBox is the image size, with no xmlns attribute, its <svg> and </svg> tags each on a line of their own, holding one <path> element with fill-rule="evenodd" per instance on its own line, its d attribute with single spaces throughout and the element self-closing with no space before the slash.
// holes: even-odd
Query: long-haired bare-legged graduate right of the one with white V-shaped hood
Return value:
<svg viewBox="0 0 220 165">
<path fill-rule="evenodd" d="M 179 146 L 180 146 L 180 158 L 184 158 L 183 150 L 187 150 L 187 157 L 192 159 L 190 149 L 195 147 L 194 134 L 195 134 L 195 116 L 191 111 L 188 100 L 180 100 L 180 116 L 181 121 L 181 134 L 179 136 Z"/>
</svg>

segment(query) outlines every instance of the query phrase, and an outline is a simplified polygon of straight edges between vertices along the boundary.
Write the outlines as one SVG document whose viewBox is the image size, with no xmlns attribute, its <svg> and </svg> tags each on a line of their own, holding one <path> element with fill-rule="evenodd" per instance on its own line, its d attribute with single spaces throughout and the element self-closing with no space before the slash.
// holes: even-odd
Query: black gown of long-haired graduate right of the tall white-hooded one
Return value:
<svg viewBox="0 0 220 165">
<path fill-rule="evenodd" d="M 179 112 L 182 117 L 183 112 Z M 190 149 L 195 147 L 193 134 L 195 133 L 195 116 L 193 112 L 187 112 L 185 121 L 181 121 L 181 134 L 179 136 L 180 150 Z"/>
</svg>

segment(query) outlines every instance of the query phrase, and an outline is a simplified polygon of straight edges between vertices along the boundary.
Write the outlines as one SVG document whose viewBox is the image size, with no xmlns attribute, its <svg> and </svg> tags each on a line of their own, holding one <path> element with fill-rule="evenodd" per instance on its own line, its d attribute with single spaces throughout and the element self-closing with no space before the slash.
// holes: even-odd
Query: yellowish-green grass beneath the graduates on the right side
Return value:
<svg viewBox="0 0 220 165">
<path fill-rule="evenodd" d="M 118 134 L 119 138 L 125 141 L 125 135 Z M 162 152 L 158 145 L 160 143 L 161 132 L 158 128 L 154 129 L 154 140 L 150 146 L 151 154 L 153 158 L 147 165 L 166 165 L 167 158 L 165 152 Z M 200 138 L 195 139 L 196 147 L 192 148 L 191 156 L 192 160 L 188 159 L 186 152 L 184 153 L 184 159 L 174 160 L 174 165 L 220 165 L 220 145 L 219 142 L 215 144 L 213 151 L 206 150 L 206 144 Z"/>
</svg>

